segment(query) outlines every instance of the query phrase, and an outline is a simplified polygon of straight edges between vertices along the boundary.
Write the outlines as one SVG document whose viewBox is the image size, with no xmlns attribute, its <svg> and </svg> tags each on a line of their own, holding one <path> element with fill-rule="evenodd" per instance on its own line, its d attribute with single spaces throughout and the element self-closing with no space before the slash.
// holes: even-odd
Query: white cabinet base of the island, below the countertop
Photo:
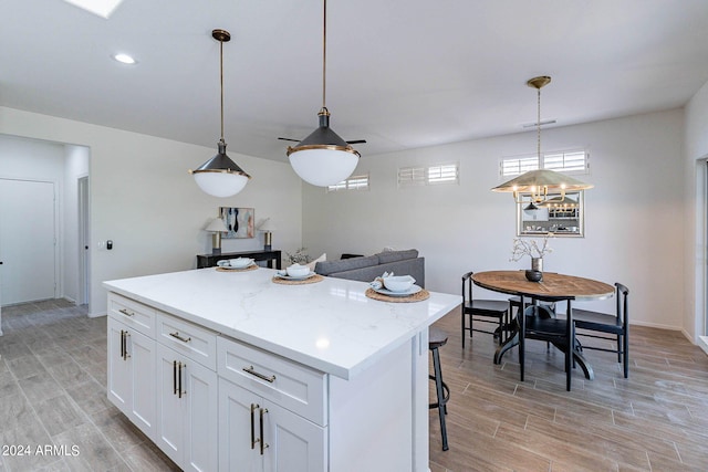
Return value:
<svg viewBox="0 0 708 472">
<path fill-rule="evenodd" d="M 108 294 L 107 395 L 183 470 L 428 470 L 427 327 L 345 379 L 136 298 Z"/>
</svg>

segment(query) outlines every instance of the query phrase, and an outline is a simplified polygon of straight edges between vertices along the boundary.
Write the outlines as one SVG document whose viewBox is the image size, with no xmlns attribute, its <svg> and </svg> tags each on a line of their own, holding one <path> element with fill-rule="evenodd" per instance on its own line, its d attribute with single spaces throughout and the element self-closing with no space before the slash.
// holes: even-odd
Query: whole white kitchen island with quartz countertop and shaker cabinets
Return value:
<svg viewBox="0 0 708 472">
<path fill-rule="evenodd" d="M 460 296 L 274 274 L 105 282 L 110 400 L 185 470 L 427 471 L 427 328 Z"/>
</svg>

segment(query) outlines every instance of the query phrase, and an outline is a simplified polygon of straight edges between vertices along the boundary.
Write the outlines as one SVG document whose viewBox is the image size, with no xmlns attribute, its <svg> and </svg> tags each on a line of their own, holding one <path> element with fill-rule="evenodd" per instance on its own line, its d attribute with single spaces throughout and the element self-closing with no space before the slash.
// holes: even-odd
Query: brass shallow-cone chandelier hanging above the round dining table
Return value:
<svg viewBox="0 0 708 472">
<path fill-rule="evenodd" d="M 551 82 L 548 75 L 533 77 L 527 82 L 527 85 L 537 90 L 538 94 L 538 116 L 537 116 L 537 156 L 539 164 L 541 162 L 541 88 Z M 530 170 L 519 177 L 509 180 L 500 186 L 491 189 L 499 192 L 513 192 L 517 203 L 523 203 L 521 193 L 529 193 L 531 207 L 546 202 L 549 191 L 561 195 L 561 200 L 565 197 L 566 191 L 579 191 L 593 188 L 591 183 L 584 183 L 565 174 L 554 170 L 538 169 Z M 527 208 L 529 209 L 529 208 Z M 535 208 L 530 208 L 535 209 Z"/>
</svg>

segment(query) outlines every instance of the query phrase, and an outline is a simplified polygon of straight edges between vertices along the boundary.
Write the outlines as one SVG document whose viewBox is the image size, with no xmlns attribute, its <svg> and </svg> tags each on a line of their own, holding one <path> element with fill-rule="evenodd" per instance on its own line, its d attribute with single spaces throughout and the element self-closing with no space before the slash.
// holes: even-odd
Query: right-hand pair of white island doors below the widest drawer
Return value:
<svg viewBox="0 0 708 472">
<path fill-rule="evenodd" d="M 327 470 L 326 432 L 325 427 L 219 378 L 220 471 Z"/>
</svg>

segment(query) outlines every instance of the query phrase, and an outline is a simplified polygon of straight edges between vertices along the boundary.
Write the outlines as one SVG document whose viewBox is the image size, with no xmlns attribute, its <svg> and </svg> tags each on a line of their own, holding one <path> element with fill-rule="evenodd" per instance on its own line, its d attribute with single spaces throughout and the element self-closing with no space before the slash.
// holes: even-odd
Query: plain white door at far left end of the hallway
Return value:
<svg viewBox="0 0 708 472">
<path fill-rule="evenodd" d="M 2 303 L 54 298 L 54 183 L 0 179 Z"/>
</svg>

